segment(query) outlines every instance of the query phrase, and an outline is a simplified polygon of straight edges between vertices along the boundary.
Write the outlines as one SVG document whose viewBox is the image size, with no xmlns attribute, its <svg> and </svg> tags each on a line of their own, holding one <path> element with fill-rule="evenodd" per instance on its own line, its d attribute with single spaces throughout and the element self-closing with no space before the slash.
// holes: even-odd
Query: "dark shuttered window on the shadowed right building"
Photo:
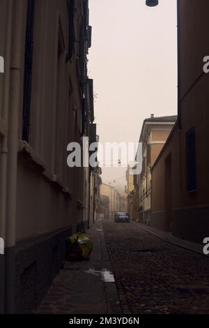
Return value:
<svg viewBox="0 0 209 328">
<path fill-rule="evenodd" d="M 196 146 L 194 128 L 186 133 L 186 168 L 187 191 L 194 191 L 196 190 Z"/>
</svg>

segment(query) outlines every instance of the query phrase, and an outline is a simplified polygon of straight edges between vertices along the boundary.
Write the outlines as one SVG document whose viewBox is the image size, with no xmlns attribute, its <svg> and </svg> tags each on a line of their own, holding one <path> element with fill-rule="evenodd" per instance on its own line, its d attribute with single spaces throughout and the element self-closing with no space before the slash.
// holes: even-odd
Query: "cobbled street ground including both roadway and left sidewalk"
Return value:
<svg viewBox="0 0 209 328">
<path fill-rule="evenodd" d="M 38 313 L 209 313 L 209 258 L 134 223 L 98 222 L 89 234 L 91 260 L 65 264 Z"/>
</svg>

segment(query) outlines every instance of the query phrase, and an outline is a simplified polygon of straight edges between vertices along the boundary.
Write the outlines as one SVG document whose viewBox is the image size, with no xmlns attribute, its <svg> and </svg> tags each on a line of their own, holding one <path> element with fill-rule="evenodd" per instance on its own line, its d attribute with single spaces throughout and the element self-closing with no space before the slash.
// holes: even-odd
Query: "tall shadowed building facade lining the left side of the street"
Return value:
<svg viewBox="0 0 209 328">
<path fill-rule="evenodd" d="M 0 308 L 30 313 L 88 227 L 88 172 L 68 167 L 93 121 L 87 0 L 1 0 Z M 89 87 L 90 85 L 90 87 Z"/>
</svg>

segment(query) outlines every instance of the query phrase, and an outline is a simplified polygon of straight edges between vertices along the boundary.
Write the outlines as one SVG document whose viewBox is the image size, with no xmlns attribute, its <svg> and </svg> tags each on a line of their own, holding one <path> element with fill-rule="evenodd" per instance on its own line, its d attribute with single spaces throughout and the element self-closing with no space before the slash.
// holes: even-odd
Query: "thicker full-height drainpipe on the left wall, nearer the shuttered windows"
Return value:
<svg viewBox="0 0 209 328">
<path fill-rule="evenodd" d="M 10 57 L 10 104 L 8 120 L 8 173 L 6 202 L 5 312 L 15 312 L 15 239 L 17 197 L 17 147 L 20 110 L 21 64 L 24 56 L 24 24 L 26 2 L 13 1 L 13 27 Z"/>
</svg>

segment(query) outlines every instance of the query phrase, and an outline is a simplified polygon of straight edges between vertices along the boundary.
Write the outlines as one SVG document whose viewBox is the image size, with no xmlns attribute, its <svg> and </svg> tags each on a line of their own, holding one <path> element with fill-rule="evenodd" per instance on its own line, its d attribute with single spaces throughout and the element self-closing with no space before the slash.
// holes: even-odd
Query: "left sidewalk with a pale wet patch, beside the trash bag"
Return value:
<svg viewBox="0 0 209 328">
<path fill-rule="evenodd" d="M 45 314 L 120 314 L 116 284 L 98 221 L 88 234 L 93 239 L 89 261 L 66 262 L 54 279 L 37 313 Z"/>
</svg>

